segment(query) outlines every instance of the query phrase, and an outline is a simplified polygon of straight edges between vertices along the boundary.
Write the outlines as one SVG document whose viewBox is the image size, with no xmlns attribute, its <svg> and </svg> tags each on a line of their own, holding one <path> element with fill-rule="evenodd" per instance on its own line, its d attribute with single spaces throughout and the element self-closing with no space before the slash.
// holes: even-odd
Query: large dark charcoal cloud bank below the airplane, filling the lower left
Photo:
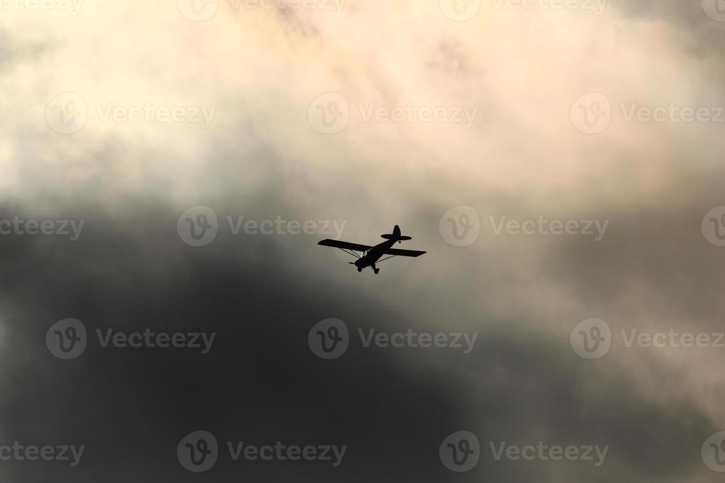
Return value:
<svg viewBox="0 0 725 483">
<path fill-rule="evenodd" d="M 175 445 L 199 429 L 220 442 L 348 445 L 337 469 L 221 458 L 204 481 L 293 475 L 310 482 L 361 475 L 446 481 L 439 442 L 467 429 L 479 436 L 484 454 L 462 481 L 558 475 L 603 482 L 626 474 L 654 482 L 692 474 L 701 464 L 699 445 L 713 432 L 692 404 L 663 406 L 616 364 L 582 361 L 568 337 L 529 327 L 515 310 L 497 320 L 473 305 L 453 308 L 480 332 L 468 355 L 358 345 L 339 360 L 323 361 L 307 347 L 307 332 L 318 320 L 338 317 L 351 330 L 452 330 L 451 307 L 442 303 L 422 314 L 416 306 L 379 303 L 363 288 L 368 274 L 347 271 L 342 282 L 340 257 L 312 254 L 308 245 L 315 237 L 226 234 L 192 248 L 178 238 L 178 210 L 170 206 L 127 201 L 123 211 L 138 214 L 133 226 L 91 206 L 68 211 L 86 220 L 75 242 L 1 239 L 2 264 L 11 276 L 3 285 L 7 364 L 0 417 L 4 441 L 83 444 L 86 453 L 73 469 L 6 462 L 9 481 L 126 481 L 139 472 L 159 482 L 197 481 L 199 475 L 176 461 Z M 40 218 L 22 206 L 4 216 L 17 212 Z M 404 264 L 385 269 L 401 279 L 402 293 Z M 465 305 L 454 292 L 449 286 L 428 296 Z M 93 344 L 80 358 L 60 361 L 44 340 L 50 325 L 65 317 L 80 319 L 89 331 L 149 327 L 216 332 L 217 340 L 203 356 Z M 652 373 L 660 370 L 653 361 L 645 364 Z M 592 469 L 584 462 L 497 462 L 488 446 L 539 440 L 610 450 L 605 465 Z"/>
</svg>

